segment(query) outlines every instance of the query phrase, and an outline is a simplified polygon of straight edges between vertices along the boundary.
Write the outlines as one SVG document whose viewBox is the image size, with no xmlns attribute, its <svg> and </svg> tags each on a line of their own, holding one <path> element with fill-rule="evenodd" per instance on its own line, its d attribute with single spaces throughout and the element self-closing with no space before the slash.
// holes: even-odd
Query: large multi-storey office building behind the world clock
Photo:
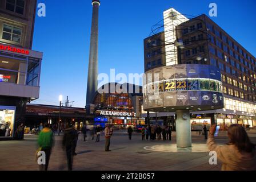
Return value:
<svg viewBox="0 0 256 182">
<path fill-rule="evenodd" d="M 169 16 L 172 20 L 173 14 Z M 152 42 L 158 40 L 159 35 L 165 34 L 166 31 L 165 24 L 163 32 L 146 38 L 144 42 L 146 43 L 148 39 Z M 222 129 L 231 123 L 256 127 L 255 57 L 206 15 L 179 23 L 175 26 L 173 33 L 176 35 L 176 40 L 173 40 L 173 43 L 181 42 L 182 44 L 177 44 L 177 51 L 165 50 L 158 56 L 167 57 L 167 55 L 177 53 L 179 64 L 207 64 L 221 70 L 225 108 L 193 112 L 191 115 L 192 129 L 196 128 L 193 125 L 209 123 L 213 119 L 221 125 Z M 164 49 L 166 44 L 170 44 L 163 36 L 158 42 L 163 44 L 157 46 L 145 44 L 145 71 L 158 67 L 158 65 L 152 64 L 152 60 L 156 56 L 150 53 L 151 49 L 157 47 Z M 158 119 L 170 121 L 171 119 L 167 118 L 173 114 L 158 113 L 161 115 Z M 153 113 L 150 116 L 155 118 Z"/>
</svg>

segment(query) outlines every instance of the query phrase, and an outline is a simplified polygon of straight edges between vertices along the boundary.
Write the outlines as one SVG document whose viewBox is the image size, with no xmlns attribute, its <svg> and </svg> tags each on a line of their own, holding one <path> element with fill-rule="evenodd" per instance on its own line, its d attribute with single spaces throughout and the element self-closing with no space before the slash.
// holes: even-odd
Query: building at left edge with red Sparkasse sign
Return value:
<svg viewBox="0 0 256 182">
<path fill-rule="evenodd" d="M 15 137 L 27 102 L 39 98 L 43 53 L 31 49 L 36 8 L 33 0 L 0 2 L 0 138 Z"/>
</svg>

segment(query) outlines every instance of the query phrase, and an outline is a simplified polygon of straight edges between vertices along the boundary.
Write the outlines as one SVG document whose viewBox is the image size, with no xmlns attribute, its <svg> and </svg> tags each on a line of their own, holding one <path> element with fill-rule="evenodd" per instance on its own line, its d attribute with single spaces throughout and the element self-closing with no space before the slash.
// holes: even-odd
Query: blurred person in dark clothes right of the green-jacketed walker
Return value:
<svg viewBox="0 0 256 182">
<path fill-rule="evenodd" d="M 67 168 L 69 169 L 69 171 L 72 171 L 73 169 L 73 147 L 75 138 L 76 136 L 72 125 L 67 125 L 67 128 L 64 130 L 62 146 L 63 149 L 66 151 Z"/>
</svg>

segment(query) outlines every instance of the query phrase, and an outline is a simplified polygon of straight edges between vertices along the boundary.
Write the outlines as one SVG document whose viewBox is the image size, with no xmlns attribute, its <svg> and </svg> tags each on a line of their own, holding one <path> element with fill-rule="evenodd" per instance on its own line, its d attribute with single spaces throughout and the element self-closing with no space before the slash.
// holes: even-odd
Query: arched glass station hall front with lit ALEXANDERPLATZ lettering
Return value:
<svg viewBox="0 0 256 182">
<path fill-rule="evenodd" d="M 108 83 L 93 97 L 95 125 L 105 127 L 106 123 L 124 129 L 145 125 L 142 118 L 142 87 L 132 84 Z"/>
</svg>

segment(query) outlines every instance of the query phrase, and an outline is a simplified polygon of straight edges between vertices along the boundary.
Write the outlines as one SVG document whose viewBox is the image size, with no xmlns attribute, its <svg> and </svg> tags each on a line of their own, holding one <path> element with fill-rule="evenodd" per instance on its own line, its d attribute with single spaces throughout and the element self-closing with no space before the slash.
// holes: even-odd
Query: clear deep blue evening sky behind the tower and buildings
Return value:
<svg viewBox="0 0 256 182">
<path fill-rule="evenodd" d="M 58 96 L 69 96 L 73 106 L 84 107 L 89 62 L 91 0 L 38 0 L 46 17 L 35 20 L 33 49 L 43 52 L 40 98 L 33 103 L 58 105 Z M 102 0 L 99 10 L 99 73 L 143 73 L 143 39 L 151 26 L 174 7 L 182 14 L 209 14 L 238 43 L 256 56 L 256 1 L 226 0 Z M 253 34 L 254 33 L 254 34 Z"/>
</svg>

